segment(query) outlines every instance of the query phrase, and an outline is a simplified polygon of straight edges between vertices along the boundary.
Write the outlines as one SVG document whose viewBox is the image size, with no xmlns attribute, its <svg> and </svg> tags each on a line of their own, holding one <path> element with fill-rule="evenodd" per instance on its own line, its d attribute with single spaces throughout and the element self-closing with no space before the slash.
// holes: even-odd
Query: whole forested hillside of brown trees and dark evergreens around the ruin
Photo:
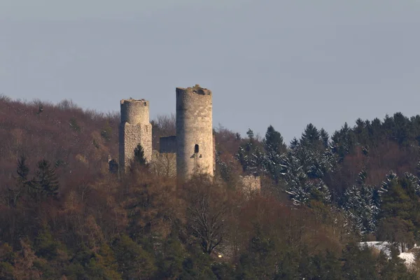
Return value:
<svg viewBox="0 0 420 280">
<path fill-rule="evenodd" d="M 420 116 L 285 144 L 215 129 L 217 180 L 118 158 L 118 113 L 0 97 L 0 279 L 419 279 Z M 152 121 L 153 146 L 174 116 Z M 244 192 L 239 176 L 262 178 Z M 391 258 L 360 241 L 391 241 Z"/>
</svg>

